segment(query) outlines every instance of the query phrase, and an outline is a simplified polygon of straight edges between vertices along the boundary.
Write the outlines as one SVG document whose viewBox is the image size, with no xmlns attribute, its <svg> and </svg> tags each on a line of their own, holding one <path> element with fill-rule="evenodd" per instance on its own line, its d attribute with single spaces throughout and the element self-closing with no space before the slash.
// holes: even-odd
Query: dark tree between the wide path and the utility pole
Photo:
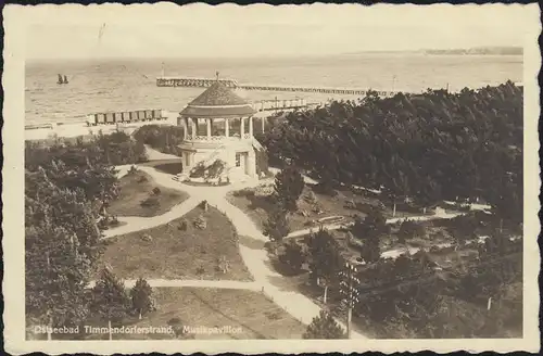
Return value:
<svg viewBox="0 0 543 356">
<path fill-rule="evenodd" d="M 310 237 L 308 250 L 312 278 L 317 282 L 325 280 L 324 302 L 326 303 L 328 288 L 337 282 L 339 272 L 344 266 L 344 258 L 333 236 L 324 228 Z"/>
</svg>

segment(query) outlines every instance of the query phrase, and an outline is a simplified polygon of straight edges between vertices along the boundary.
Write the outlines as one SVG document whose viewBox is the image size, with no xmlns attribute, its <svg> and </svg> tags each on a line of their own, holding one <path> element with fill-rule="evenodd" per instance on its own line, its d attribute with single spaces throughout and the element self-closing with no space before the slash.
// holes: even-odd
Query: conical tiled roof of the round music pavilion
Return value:
<svg viewBox="0 0 543 356">
<path fill-rule="evenodd" d="M 251 116 L 255 110 L 224 84 L 216 81 L 181 111 L 185 117 Z"/>
</svg>

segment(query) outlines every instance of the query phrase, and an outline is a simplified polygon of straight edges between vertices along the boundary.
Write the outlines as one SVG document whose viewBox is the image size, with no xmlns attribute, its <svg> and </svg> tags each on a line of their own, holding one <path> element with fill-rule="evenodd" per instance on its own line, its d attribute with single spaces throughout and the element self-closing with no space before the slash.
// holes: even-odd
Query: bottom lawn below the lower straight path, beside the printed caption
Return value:
<svg viewBox="0 0 543 356">
<path fill-rule="evenodd" d="M 167 327 L 175 323 L 189 328 L 223 328 L 232 332 L 114 334 L 115 340 L 251 340 L 302 339 L 305 326 L 292 318 L 262 293 L 244 290 L 207 288 L 153 289 L 157 310 L 141 320 L 130 318 L 125 326 Z M 181 329 L 182 327 L 179 327 Z M 88 339 L 108 339 L 108 334 L 88 335 Z"/>
</svg>

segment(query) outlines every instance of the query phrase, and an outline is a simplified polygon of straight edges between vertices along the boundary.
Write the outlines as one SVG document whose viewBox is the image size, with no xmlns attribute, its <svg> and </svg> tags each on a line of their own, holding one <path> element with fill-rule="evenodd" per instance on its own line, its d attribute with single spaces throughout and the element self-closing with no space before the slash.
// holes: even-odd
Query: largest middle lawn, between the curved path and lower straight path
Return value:
<svg viewBox="0 0 543 356">
<path fill-rule="evenodd" d="M 205 229 L 193 225 L 200 215 L 206 220 Z M 181 229 L 184 220 L 187 230 Z M 195 207 L 169 224 L 112 238 L 103 262 L 124 279 L 252 280 L 238 241 L 233 225 L 219 211 Z M 229 268 L 223 272 L 219 265 L 225 264 Z"/>
</svg>

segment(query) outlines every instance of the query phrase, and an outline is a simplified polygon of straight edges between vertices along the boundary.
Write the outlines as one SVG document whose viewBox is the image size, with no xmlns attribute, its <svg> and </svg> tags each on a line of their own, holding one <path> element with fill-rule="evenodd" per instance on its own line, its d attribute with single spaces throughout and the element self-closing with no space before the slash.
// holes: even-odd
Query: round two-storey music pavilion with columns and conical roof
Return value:
<svg viewBox="0 0 543 356">
<path fill-rule="evenodd" d="M 185 107 L 182 173 L 179 180 L 224 183 L 267 173 L 265 149 L 253 136 L 253 106 L 219 81 Z M 264 131 L 264 118 L 260 119 Z"/>
</svg>

